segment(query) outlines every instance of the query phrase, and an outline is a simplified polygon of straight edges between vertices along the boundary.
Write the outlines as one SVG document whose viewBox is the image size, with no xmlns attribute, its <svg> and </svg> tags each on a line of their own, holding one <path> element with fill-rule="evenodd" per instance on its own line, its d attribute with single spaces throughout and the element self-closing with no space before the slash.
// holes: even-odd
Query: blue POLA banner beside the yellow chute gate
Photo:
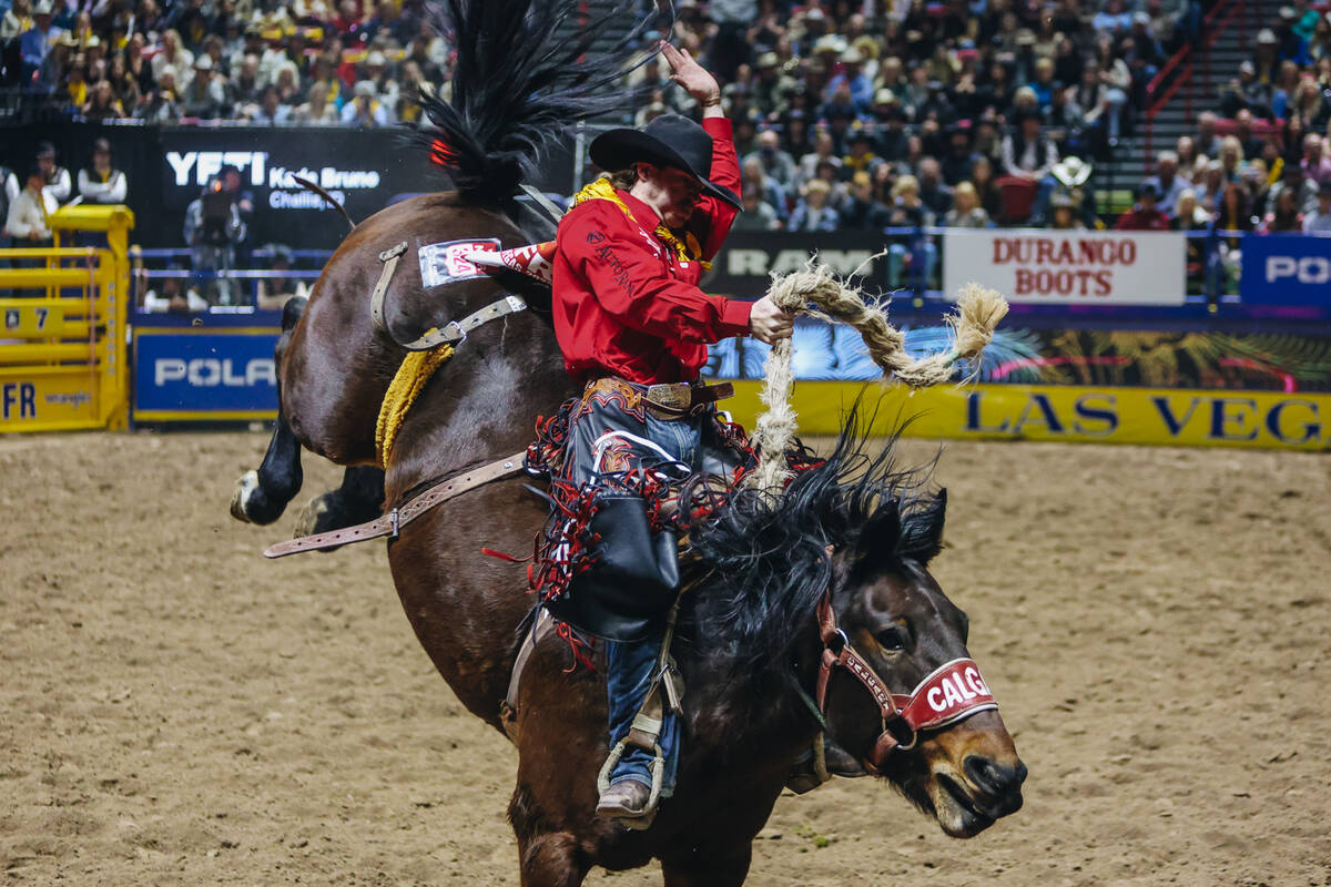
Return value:
<svg viewBox="0 0 1331 887">
<path fill-rule="evenodd" d="M 266 327 L 136 328 L 134 420 L 274 418 L 278 334 Z"/>
</svg>

